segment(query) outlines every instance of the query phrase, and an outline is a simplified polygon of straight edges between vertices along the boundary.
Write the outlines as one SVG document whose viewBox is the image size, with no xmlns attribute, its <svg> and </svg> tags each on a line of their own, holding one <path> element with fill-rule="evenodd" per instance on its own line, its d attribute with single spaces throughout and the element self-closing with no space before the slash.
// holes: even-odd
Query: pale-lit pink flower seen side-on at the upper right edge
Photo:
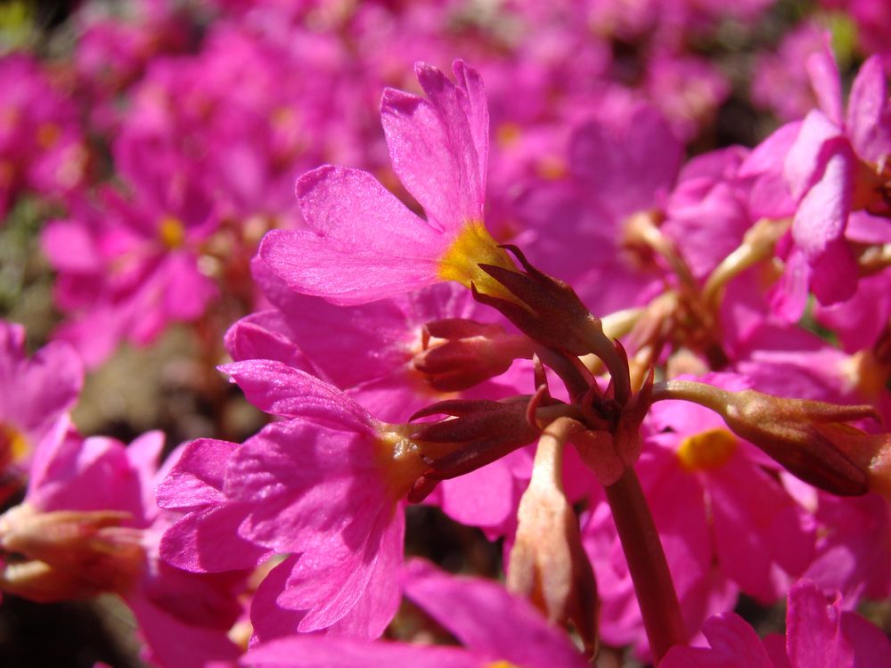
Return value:
<svg viewBox="0 0 891 668">
<path fill-rule="evenodd" d="M 797 202 L 795 243 L 785 273 L 783 313 L 797 317 L 809 287 L 822 304 L 854 294 L 857 266 L 848 247 L 849 218 L 866 216 L 891 235 L 882 170 L 891 155 L 891 107 L 878 58 L 863 63 L 847 111 L 838 69 L 828 47 L 807 61 L 820 109 L 805 117 L 789 148 L 784 175 Z"/>
</svg>

